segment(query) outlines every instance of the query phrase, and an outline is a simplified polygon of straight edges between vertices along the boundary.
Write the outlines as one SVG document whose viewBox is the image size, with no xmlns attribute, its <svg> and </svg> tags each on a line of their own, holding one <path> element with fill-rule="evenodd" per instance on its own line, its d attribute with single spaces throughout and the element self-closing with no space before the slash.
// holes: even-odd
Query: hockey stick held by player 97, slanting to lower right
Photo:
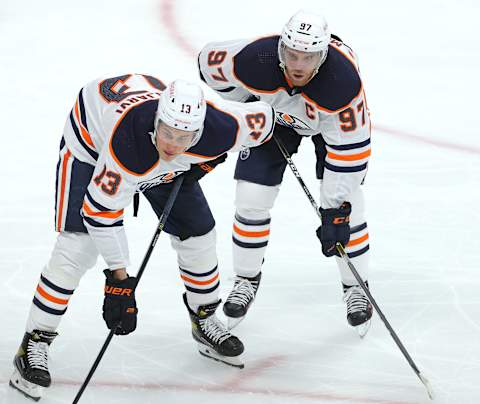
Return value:
<svg viewBox="0 0 480 404">
<path fill-rule="evenodd" d="M 288 150 L 285 148 L 285 146 L 283 145 L 282 141 L 280 139 L 278 139 L 277 136 L 273 135 L 273 138 L 275 139 L 275 142 L 277 143 L 277 146 L 278 148 L 280 149 L 280 152 L 283 154 L 283 157 L 285 158 L 285 160 L 287 161 L 287 164 L 289 165 L 290 169 L 292 170 L 293 174 L 295 175 L 295 177 L 297 178 L 300 186 L 302 187 L 303 191 L 305 192 L 305 194 L 307 195 L 308 199 L 310 200 L 310 203 L 312 204 L 313 208 L 315 209 L 315 213 L 317 214 L 317 216 L 320 218 L 320 220 L 322 219 L 322 216 L 320 214 L 320 210 L 318 209 L 318 205 L 317 205 L 317 202 L 315 202 L 315 199 L 313 198 L 312 194 L 310 193 L 310 191 L 308 190 L 307 186 L 305 185 L 305 182 L 303 181 L 301 175 L 300 175 L 300 172 L 298 171 L 297 167 L 295 166 L 295 163 L 293 162 L 292 160 L 292 157 L 290 156 L 290 154 L 288 153 Z M 373 298 L 372 294 L 370 293 L 369 289 L 367 288 L 367 285 L 365 285 L 365 282 L 363 282 L 361 276 L 359 275 L 357 269 L 355 268 L 355 266 L 353 265 L 352 261 L 350 261 L 350 258 L 348 257 L 347 253 L 345 252 L 345 248 L 343 247 L 343 245 L 341 243 L 337 243 L 336 244 L 336 248 L 337 248 L 337 251 L 338 253 L 340 254 L 340 257 L 343 259 L 343 261 L 345 262 L 345 264 L 347 264 L 348 268 L 350 269 L 350 271 L 353 273 L 353 276 L 355 277 L 355 279 L 357 280 L 358 284 L 360 285 L 360 287 L 363 289 L 363 291 L 365 292 L 365 294 L 367 295 L 368 297 L 368 300 L 370 301 L 370 303 L 372 303 L 372 306 L 375 308 L 375 311 L 377 312 L 378 316 L 380 317 L 380 319 L 382 320 L 383 324 L 385 325 L 385 327 L 387 328 L 387 330 L 390 332 L 390 335 L 392 336 L 393 340 L 395 341 L 395 343 L 397 344 L 398 348 L 400 349 L 400 351 L 402 352 L 403 356 L 405 357 L 405 359 L 407 360 L 408 364 L 410 365 L 410 367 L 413 369 L 413 371 L 415 372 L 415 374 L 418 376 L 418 378 L 420 379 L 420 381 L 423 383 L 423 385 L 425 386 L 425 388 L 427 389 L 427 394 L 428 394 L 428 397 L 430 397 L 431 400 L 433 400 L 433 390 L 432 390 L 432 386 L 430 385 L 430 382 L 428 381 L 428 379 L 423 376 L 421 374 L 421 372 L 418 370 L 418 367 L 417 365 L 415 364 L 415 362 L 413 361 L 412 357 L 410 356 L 410 354 L 408 353 L 408 351 L 405 349 L 405 347 L 403 346 L 402 344 L 402 341 L 400 341 L 400 338 L 398 338 L 396 332 L 393 330 L 392 326 L 390 325 L 390 323 L 388 322 L 387 318 L 385 317 L 385 315 L 383 314 L 382 310 L 380 309 L 380 307 L 378 306 L 377 302 L 375 301 L 375 299 Z"/>
</svg>

